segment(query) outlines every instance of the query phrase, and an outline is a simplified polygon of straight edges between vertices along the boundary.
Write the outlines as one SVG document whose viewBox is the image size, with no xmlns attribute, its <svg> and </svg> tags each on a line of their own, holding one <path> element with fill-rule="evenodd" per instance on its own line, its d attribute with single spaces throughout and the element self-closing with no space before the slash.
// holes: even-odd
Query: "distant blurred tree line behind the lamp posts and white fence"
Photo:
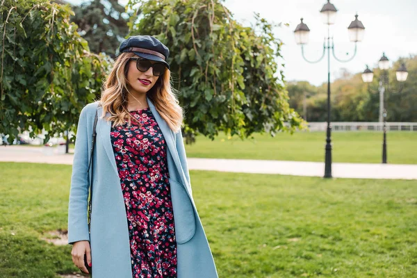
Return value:
<svg viewBox="0 0 417 278">
<path fill-rule="evenodd" d="M 395 71 L 404 61 L 409 72 L 407 81 L 400 84 Z M 381 71 L 373 69 L 374 79 L 369 85 L 363 83 L 361 73 L 347 75 L 348 78 L 336 79 L 331 85 L 333 122 L 377 122 L 379 119 L 378 83 Z M 402 58 L 393 63 L 389 70 L 389 83 L 386 88 L 385 107 L 389 122 L 417 122 L 417 56 Z M 403 86 L 400 91 L 400 87 Z M 288 85 L 291 107 L 302 113 L 300 92 L 313 92 L 307 101 L 308 119 L 311 122 L 327 120 L 327 83 L 315 87 L 306 81 Z"/>
</svg>

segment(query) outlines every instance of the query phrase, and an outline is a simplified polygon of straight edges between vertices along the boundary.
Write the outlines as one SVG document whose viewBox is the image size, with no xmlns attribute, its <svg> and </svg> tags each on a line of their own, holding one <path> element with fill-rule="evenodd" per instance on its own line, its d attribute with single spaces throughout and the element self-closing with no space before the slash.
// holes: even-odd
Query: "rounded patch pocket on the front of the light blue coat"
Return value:
<svg viewBox="0 0 417 278">
<path fill-rule="evenodd" d="M 183 185 L 173 179 L 169 180 L 174 210 L 175 238 L 177 243 L 183 244 L 195 234 L 194 208 Z"/>
</svg>

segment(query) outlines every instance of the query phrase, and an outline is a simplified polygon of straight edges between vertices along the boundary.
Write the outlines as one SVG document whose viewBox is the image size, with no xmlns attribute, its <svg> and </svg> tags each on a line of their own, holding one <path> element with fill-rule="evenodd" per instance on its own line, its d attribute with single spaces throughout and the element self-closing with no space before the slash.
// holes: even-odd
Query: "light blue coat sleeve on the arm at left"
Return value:
<svg viewBox="0 0 417 278">
<path fill-rule="evenodd" d="M 88 232 L 88 128 L 86 107 L 81 110 L 76 130 L 74 161 L 68 204 L 68 244 L 79 240 L 90 240 Z"/>
</svg>

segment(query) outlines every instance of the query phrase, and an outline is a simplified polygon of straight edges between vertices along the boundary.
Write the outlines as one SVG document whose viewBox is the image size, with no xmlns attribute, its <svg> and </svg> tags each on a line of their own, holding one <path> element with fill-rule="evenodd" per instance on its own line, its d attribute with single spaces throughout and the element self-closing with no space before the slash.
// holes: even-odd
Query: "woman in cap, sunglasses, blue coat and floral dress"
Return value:
<svg viewBox="0 0 417 278">
<path fill-rule="evenodd" d="M 169 50 L 136 35 L 120 45 L 100 101 L 80 114 L 68 208 L 72 261 L 97 278 L 217 278 L 190 186 L 183 111 L 170 87 Z M 88 231 L 88 163 L 92 213 Z"/>
</svg>

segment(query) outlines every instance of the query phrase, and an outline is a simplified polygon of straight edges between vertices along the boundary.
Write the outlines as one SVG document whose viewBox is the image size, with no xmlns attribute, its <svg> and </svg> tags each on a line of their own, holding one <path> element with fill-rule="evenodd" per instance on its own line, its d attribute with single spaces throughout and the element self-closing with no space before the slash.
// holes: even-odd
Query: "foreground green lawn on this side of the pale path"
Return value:
<svg viewBox="0 0 417 278">
<path fill-rule="evenodd" d="M 79 272 L 40 239 L 67 228 L 70 174 L 0 163 L 0 277 Z M 190 174 L 221 278 L 417 277 L 416 181 Z"/>
</svg>

